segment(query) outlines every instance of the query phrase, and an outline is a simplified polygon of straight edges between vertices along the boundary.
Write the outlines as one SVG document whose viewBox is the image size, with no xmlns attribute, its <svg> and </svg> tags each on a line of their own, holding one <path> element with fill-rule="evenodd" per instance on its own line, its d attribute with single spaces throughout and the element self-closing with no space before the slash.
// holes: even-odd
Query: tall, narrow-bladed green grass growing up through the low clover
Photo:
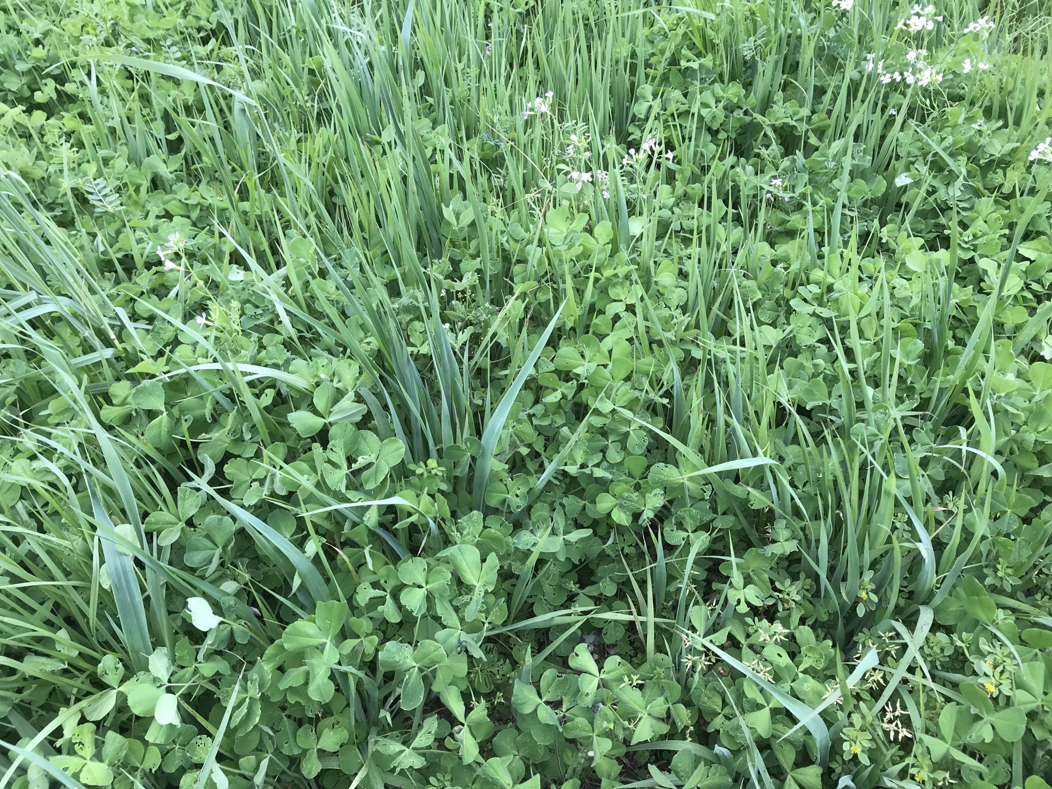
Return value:
<svg viewBox="0 0 1052 789">
<path fill-rule="evenodd" d="M 317 511 L 324 507 L 326 517 L 336 513 L 349 527 L 368 524 L 382 538 L 380 550 L 394 561 L 420 553 L 429 541 L 441 545 L 459 514 L 500 511 L 487 503 L 492 469 L 514 464 L 521 446 L 521 456 L 535 456 L 530 463 L 538 472 L 524 498 L 535 501 L 570 465 L 568 452 L 590 429 L 593 411 L 579 406 L 575 422 L 541 433 L 529 446 L 517 444 L 513 434 L 515 425 L 528 422 L 521 397 L 527 380 L 542 367 L 551 369 L 554 349 L 584 347 L 582 338 L 607 308 L 596 294 L 599 259 L 583 265 L 584 276 L 569 270 L 545 225 L 563 201 L 551 167 L 562 146 L 559 122 L 579 122 L 581 137 L 589 135 L 583 144 L 591 146 L 596 166 L 610 170 L 611 183 L 606 198 L 569 200 L 587 215 L 589 228 L 610 225 L 622 265 L 616 276 L 634 294 L 624 305 L 634 326 L 633 360 L 649 364 L 645 373 L 636 370 L 646 401 L 615 407 L 682 469 L 682 484 L 695 498 L 710 491 L 713 507 L 733 525 L 729 554 L 640 537 L 643 559 L 623 559 L 624 572 L 616 569 L 630 601 L 631 618 L 623 616 L 636 628 L 641 651 L 651 658 L 667 649 L 679 662 L 692 608 L 708 606 L 713 631 L 733 614 L 725 595 L 693 588 L 695 566 L 739 561 L 749 548 L 767 545 L 775 524 L 786 530 L 786 542 L 795 541 L 800 576 L 826 606 L 839 642 L 864 629 L 904 628 L 906 620 L 910 628 L 930 624 L 931 607 L 946 600 L 967 569 L 989 561 L 982 545 L 992 529 L 991 502 L 1010 495 L 1014 484 L 998 458 L 1006 428 L 992 411 L 997 393 L 990 381 L 1004 333 L 996 312 L 1019 244 L 1035 222 L 1047 223 L 1040 217 L 1047 186 L 1024 180 L 1006 186 L 1006 199 L 1020 210 L 1009 228 L 1000 277 L 985 306 L 962 321 L 955 282 L 972 264 L 957 250 L 969 228 L 957 204 L 947 202 L 952 189 L 944 180 L 968 181 L 967 165 L 952 140 L 932 139 L 906 112 L 889 124 L 890 93 L 859 89 L 852 80 L 852 72 L 863 68 L 863 53 L 841 60 L 843 73 L 830 72 L 827 49 L 837 44 L 823 38 L 827 32 L 795 21 L 807 5 L 244 0 L 215 9 L 210 38 L 178 34 L 178 58 L 160 47 L 153 54 L 85 50 L 54 70 L 82 85 L 94 129 L 83 136 L 82 156 L 117 196 L 97 200 L 138 199 L 145 187 L 128 174 L 178 158 L 178 176 L 165 177 L 155 166 L 147 185 L 173 193 L 189 187 L 204 203 L 187 222 L 216 279 L 246 272 L 271 307 L 247 332 L 252 343 L 269 332 L 305 360 L 315 355 L 357 364 L 367 383 L 360 397 L 381 438 L 401 439 L 407 462 L 432 461 L 445 469 L 452 514 L 425 509 L 420 500 L 349 506 L 315 491 Z M 896 35 L 899 4 L 857 5 L 864 6 L 852 17 L 859 39 Z M 1019 138 L 1047 123 L 1048 107 L 1037 108 L 1038 95 L 1047 103 L 1052 79 L 1047 9 L 1027 0 L 959 0 L 945 12 L 948 26 L 958 28 L 993 14 L 998 26 L 989 46 L 998 65 L 1016 64 L 1003 95 L 968 96 L 965 109 L 986 107 L 988 122 Z M 6 11 L 53 20 L 60 13 L 57 5 L 14 0 Z M 654 26 L 667 28 L 668 46 L 655 45 Z M 695 89 L 684 90 L 682 106 L 665 115 L 663 107 L 640 103 L 645 86 L 679 67 L 675 47 L 699 54 L 703 76 Z M 700 130 L 700 119 L 712 109 L 706 88 L 734 83 L 751 92 L 734 133 Z M 524 118 L 526 102 L 549 90 L 552 113 Z M 61 101 L 46 99 L 41 106 L 58 113 Z M 816 194 L 815 204 L 802 197 L 806 221 L 795 238 L 784 239 L 804 261 L 786 266 L 784 291 L 815 287 L 827 310 L 822 315 L 836 316 L 820 322 L 818 340 L 832 349 L 843 408 L 821 421 L 790 396 L 780 340 L 765 330 L 771 319 L 757 315 L 757 300 L 747 291 L 758 287 L 763 261 L 770 258 L 766 228 L 773 207 L 764 184 L 743 173 L 764 170 L 775 135 L 768 119 L 790 101 L 813 126 L 802 129 L 791 155 L 802 166 L 825 162 L 838 187 L 831 199 Z M 675 232 L 659 229 L 671 204 L 651 200 L 629 216 L 634 198 L 613 175 L 626 150 L 659 127 L 700 196 Z M 118 167 L 114 151 L 134 167 Z M 918 177 L 919 188 L 906 191 L 891 185 L 909 157 L 931 169 Z M 654 169 L 642 188 L 659 195 L 663 184 L 672 185 L 672 174 L 671 167 Z M 959 355 L 953 375 L 926 386 L 920 401 L 912 398 L 916 387 L 910 399 L 899 392 L 908 379 L 896 350 L 905 319 L 892 294 L 899 264 L 882 251 L 879 228 L 858 220 L 848 197 L 855 180 L 888 184 L 878 209 L 887 225 L 927 236 L 933 213 L 943 213 L 947 225 L 940 242 L 947 254 L 933 255 L 925 277 L 911 281 L 920 288 L 911 320 L 920 327 L 926 367 L 940 368 L 951 345 Z M 136 283 L 157 258 L 136 226 L 139 219 L 126 221 L 126 241 L 117 248 L 119 234 L 99 232 L 103 219 L 72 187 L 66 196 L 42 195 L 13 169 L 2 176 L 3 452 L 17 462 L 6 464 L 0 483 L 22 491 L 0 515 L 6 582 L 0 588 L 0 664 L 12 672 L 0 680 L 5 741 L 46 745 L 66 714 L 57 695 L 77 705 L 104 690 L 96 677 L 103 655 L 145 670 L 156 648 L 171 652 L 178 630 L 171 618 L 179 615 L 174 599 L 201 596 L 219 609 L 223 590 L 175 566 L 171 547 L 144 527 L 149 513 L 178 510 L 181 486 L 219 502 L 280 569 L 265 582 L 246 581 L 255 603 L 239 613 L 251 638 L 280 640 L 280 623 L 352 596 L 341 586 L 340 554 L 316 539 L 310 513 L 289 539 L 239 505 L 224 484 L 209 483 L 216 464 L 200 451 L 203 440 L 186 437 L 160 452 L 144 440 L 144 424 L 114 426 L 103 419 L 115 383 L 154 378 L 148 365 L 132 368 L 156 353 L 150 335 L 164 326 L 178 338 L 173 344 L 191 345 L 197 359 L 178 358 L 179 369 L 168 369 L 163 380 L 193 382 L 187 399 L 200 400 L 209 419 L 250 425 L 267 473 L 292 477 L 299 472 L 284 456 L 266 454 L 285 429 L 276 409 L 291 409 L 294 397 L 316 387 L 306 367 L 267 364 L 244 338 L 221 345 L 195 313 L 144 297 Z M 463 318 L 452 328 L 444 284 L 451 255 L 458 264 L 469 257 L 474 272 L 456 294 Z M 684 306 L 671 326 L 648 297 L 670 257 L 685 272 Z M 846 306 L 853 295 L 845 282 L 857 289 L 863 281 L 872 286 L 865 306 Z M 182 282 L 174 302 L 187 303 L 194 287 Z M 1041 315 L 1047 320 L 1047 311 Z M 209 312 L 208 320 L 222 319 Z M 1035 324 L 1023 333 L 1038 330 Z M 460 447 L 466 460 L 449 447 Z M 956 489 L 943 483 L 947 466 L 960 469 Z M 310 497 L 298 489 L 299 500 L 271 504 L 302 514 L 299 505 Z M 938 509 L 947 493 L 962 507 L 952 518 Z M 973 515 L 967 528 L 965 502 Z M 382 523 L 378 512 L 386 513 Z M 894 513 L 905 517 L 907 538 L 894 528 Z M 1034 541 L 1034 564 L 1044 561 L 1047 539 Z M 532 623 L 534 613 L 524 604 L 533 573 L 547 561 L 539 550 L 513 586 L 505 631 L 602 626 L 601 616 L 580 611 Z M 855 615 L 864 580 L 878 605 Z M 889 670 L 884 696 L 911 682 L 911 667 L 928 673 L 916 638 L 905 631 L 909 659 L 898 664 L 902 670 Z M 741 675 L 768 685 L 721 644 L 707 646 Z M 845 673 L 845 688 L 861 676 L 858 667 Z M 370 705 L 379 704 L 377 694 L 389 704 L 392 691 L 378 687 L 379 676 L 359 680 L 347 684 L 343 677 L 344 690 L 358 694 L 359 711 L 379 727 L 380 708 Z M 949 685 L 945 677 L 935 681 Z M 821 715 L 781 693 L 774 692 L 811 731 L 820 755 L 828 755 L 830 732 Z M 213 724 L 225 729 L 235 701 L 231 695 Z M 213 764 L 216 750 L 231 745 L 222 736 L 215 742 Z M 0 758 L 6 769 L 0 787 L 12 783 L 18 761 Z M 754 785 L 763 785 L 762 755 L 753 766 Z M 389 777 L 373 772 L 368 781 L 380 786 Z"/>
</svg>

